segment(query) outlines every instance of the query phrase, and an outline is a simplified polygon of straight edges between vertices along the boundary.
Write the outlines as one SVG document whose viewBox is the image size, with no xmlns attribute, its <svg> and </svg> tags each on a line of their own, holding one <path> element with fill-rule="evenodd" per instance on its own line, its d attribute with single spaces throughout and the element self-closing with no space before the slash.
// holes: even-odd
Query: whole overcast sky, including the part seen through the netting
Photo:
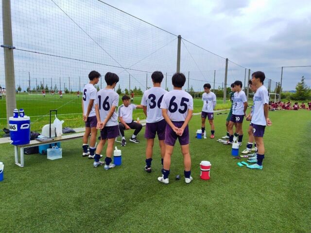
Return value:
<svg viewBox="0 0 311 233">
<path fill-rule="evenodd" d="M 311 65 L 306 0 L 104 2 L 145 22 L 98 0 L 11 0 L 16 85 L 81 90 L 95 69 L 103 76 L 117 73 L 121 89 L 144 90 L 151 73 L 161 70 L 170 89 L 179 34 L 181 71 L 196 91 L 207 82 L 224 85 L 225 58 L 228 84 L 243 82 L 247 68 L 264 71 L 272 89 L 280 82 L 281 67 Z M 0 85 L 5 86 L 3 64 L 0 56 Z M 311 86 L 311 67 L 284 68 L 283 90 L 294 90 L 301 76 Z"/>
</svg>

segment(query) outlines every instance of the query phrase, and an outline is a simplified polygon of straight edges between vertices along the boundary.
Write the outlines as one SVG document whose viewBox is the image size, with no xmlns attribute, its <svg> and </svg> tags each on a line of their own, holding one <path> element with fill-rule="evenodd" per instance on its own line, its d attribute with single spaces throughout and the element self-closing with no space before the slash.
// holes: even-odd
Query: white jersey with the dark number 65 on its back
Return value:
<svg viewBox="0 0 311 233">
<path fill-rule="evenodd" d="M 193 99 L 183 90 L 172 90 L 163 96 L 160 107 L 167 109 L 167 114 L 172 121 L 185 121 L 188 110 L 193 110 Z"/>
</svg>

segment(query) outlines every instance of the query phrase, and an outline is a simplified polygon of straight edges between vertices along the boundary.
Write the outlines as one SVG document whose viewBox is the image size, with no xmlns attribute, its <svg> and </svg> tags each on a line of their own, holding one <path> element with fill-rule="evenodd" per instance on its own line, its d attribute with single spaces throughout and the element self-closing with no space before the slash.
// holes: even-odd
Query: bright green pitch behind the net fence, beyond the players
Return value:
<svg viewBox="0 0 311 233">
<path fill-rule="evenodd" d="M 41 132 L 44 125 L 49 124 L 50 110 L 57 109 L 59 119 L 64 120 L 64 127 L 77 128 L 84 126 L 82 120 L 82 106 L 81 99 L 77 98 L 75 94 L 64 94 L 63 99 L 59 95 L 51 96 L 47 94 L 45 98 L 42 95 L 28 95 L 28 93 L 19 93 L 16 95 L 17 108 L 23 108 L 27 116 L 31 116 L 31 130 Z M 5 98 L 0 100 L 0 129 L 6 127 L 6 106 Z M 141 96 L 134 97 L 134 103 L 140 104 Z M 119 105 L 122 103 L 120 98 Z M 202 100 L 194 99 L 194 112 L 202 110 Z M 226 104 L 222 100 L 217 101 L 217 109 L 230 108 L 230 102 Z M 12 113 L 13 116 L 13 113 Z M 145 119 L 142 109 L 134 110 L 134 119 L 139 117 Z M 52 121 L 54 118 L 52 118 Z M 0 135 L 3 131 L 0 131 Z"/>
</svg>

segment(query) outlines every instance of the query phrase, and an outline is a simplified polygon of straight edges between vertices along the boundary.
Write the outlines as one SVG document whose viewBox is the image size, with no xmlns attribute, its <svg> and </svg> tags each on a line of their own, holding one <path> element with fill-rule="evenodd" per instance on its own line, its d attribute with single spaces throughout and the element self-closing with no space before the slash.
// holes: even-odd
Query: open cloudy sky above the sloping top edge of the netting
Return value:
<svg viewBox="0 0 311 233">
<path fill-rule="evenodd" d="M 311 65 L 308 0 L 105 0 L 134 16 L 229 60 L 280 81 L 282 66 Z M 283 86 L 294 89 L 311 67 L 284 68 Z"/>
</svg>

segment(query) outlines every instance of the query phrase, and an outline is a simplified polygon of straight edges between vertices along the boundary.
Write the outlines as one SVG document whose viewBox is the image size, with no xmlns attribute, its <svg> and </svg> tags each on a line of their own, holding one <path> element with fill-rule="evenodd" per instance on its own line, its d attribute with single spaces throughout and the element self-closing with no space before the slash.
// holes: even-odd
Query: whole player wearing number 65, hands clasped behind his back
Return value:
<svg viewBox="0 0 311 233">
<path fill-rule="evenodd" d="M 182 90 L 186 82 L 183 73 L 175 73 L 172 77 L 173 90 L 166 93 L 161 101 L 162 115 L 167 122 L 165 129 L 165 155 L 163 161 L 162 176 L 158 181 L 169 183 L 171 156 L 175 142 L 178 138 L 181 152 L 184 156 L 185 182 L 192 181 L 191 157 L 189 152 L 189 128 L 188 123 L 193 113 L 193 99 L 189 93 Z"/>
</svg>

